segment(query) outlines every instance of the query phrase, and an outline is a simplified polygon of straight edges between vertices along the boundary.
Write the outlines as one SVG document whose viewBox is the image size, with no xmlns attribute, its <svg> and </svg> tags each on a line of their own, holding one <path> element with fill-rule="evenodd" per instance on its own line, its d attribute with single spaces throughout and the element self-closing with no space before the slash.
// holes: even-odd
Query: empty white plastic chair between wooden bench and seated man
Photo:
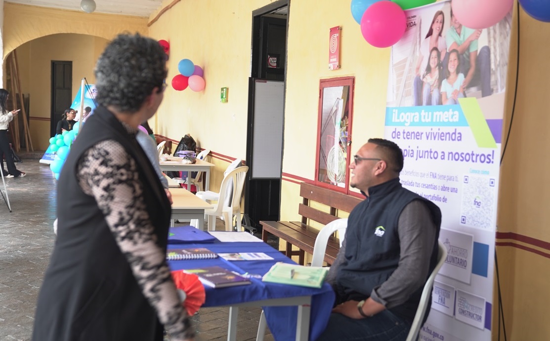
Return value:
<svg viewBox="0 0 550 341">
<path fill-rule="evenodd" d="M 324 260 L 324 251 L 327 250 L 328 238 L 336 231 L 340 239 L 340 248 L 344 242 L 345 229 L 348 227 L 348 218 L 337 219 L 329 222 L 325 225 L 315 238 L 315 245 L 313 245 L 313 256 L 311 258 L 311 266 L 322 266 Z M 256 334 L 256 341 L 263 341 L 263 336 L 266 334 L 267 321 L 266 316 L 263 313 L 260 315 L 260 322 L 258 323 L 258 333 Z"/>
</svg>

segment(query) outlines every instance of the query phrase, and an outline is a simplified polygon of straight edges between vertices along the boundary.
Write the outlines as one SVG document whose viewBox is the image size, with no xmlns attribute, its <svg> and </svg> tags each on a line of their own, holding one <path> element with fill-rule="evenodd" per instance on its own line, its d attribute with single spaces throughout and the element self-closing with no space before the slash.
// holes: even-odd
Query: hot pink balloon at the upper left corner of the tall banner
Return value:
<svg viewBox="0 0 550 341">
<path fill-rule="evenodd" d="M 403 9 L 391 1 L 375 2 L 361 18 L 361 33 L 374 47 L 389 47 L 405 34 L 406 16 Z"/>
</svg>

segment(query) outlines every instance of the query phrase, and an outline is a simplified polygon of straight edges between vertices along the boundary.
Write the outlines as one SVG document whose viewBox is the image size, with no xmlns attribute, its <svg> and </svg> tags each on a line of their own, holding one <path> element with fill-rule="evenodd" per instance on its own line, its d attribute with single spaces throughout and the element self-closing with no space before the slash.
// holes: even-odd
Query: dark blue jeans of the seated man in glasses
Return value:
<svg viewBox="0 0 550 341">
<path fill-rule="evenodd" d="M 355 320 L 342 314 L 331 314 L 327 328 L 317 341 L 368 340 L 400 341 L 409 334 L 410 323 L 384 310 L 372 317 Z"/>
</svg>

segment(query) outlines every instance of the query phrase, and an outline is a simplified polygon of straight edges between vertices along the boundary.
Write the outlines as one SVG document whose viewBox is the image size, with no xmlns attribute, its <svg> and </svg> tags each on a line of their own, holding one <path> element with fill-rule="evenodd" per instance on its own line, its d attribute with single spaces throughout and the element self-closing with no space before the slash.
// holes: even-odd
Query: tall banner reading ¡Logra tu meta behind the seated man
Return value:
<svg viewBox="0 0 550 341">
<path fill-rule="evenodd" d="M 405 13 L 385 135 L 403 149 L 404 187 L 441 208 L 448 251 L 419 339 L 490 340 L 511 12 L 483 30 L 461 25 L 450 1 Z"/>
</svg>

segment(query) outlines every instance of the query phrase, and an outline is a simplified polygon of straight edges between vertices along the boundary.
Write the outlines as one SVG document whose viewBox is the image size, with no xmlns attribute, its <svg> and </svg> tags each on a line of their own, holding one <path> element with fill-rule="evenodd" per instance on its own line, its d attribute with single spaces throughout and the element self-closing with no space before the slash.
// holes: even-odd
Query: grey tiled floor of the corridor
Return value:
<svg viewBox="0 0 550 341">
<path fill-rule="evenodd" d="M 57 181 L 50 167 L 36 159 L 23 159 L 17 167 L 27 176 L 5 179 L 11 213 L 0 197 L 0 340 L 31 338 L 36 297 L 55 238 Z M 0 189 L 5 196 L 1 178 Z M 260 313 L 259 308 L 239 309 L 237 340 L 256 338 Z M 202 308 L 193 317 L 196 340 L 227 339 L 228 314 L 228 308 Z M 273 337 L 267 332 L 265 339 Z"/>
</svg>

